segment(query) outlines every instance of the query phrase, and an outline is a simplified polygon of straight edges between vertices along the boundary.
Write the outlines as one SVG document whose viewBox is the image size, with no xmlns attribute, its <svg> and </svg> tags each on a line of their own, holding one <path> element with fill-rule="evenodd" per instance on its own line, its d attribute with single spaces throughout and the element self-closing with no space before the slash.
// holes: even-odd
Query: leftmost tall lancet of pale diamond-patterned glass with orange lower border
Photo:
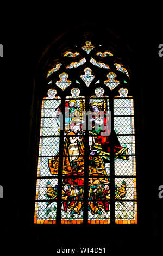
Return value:
<svg viewBox="0 0 163 256">
<path fill-rule="evenodd" d="M 59 130 L 55 117 L 61 100 L 56 90 L 48 90 L 42 100 L 39 157 L 37 163 L 34 223 L 55 224 L 57 214 L 58 173 L 51 173 L 49 160 L 59 152 Z"/>
</svg>

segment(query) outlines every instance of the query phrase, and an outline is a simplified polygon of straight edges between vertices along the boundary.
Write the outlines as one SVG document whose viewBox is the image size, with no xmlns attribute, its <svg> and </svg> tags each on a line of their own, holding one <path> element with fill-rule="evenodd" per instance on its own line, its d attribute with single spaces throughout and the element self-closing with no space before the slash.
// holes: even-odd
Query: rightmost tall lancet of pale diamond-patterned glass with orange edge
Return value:
<svg viewBox="0 0 163 256">
<path fill-rule="evenodd" d="M 115 223 L 136 224 L 137 193 L 134 102 L 133 98 L 127 95 L 128 90 L 126 88 L 121 88 L 119 93 L 120 95 L 114 99 L 114 128 L 120 144 L 128 149 L 128 159 L 125 161 L 118 158 L 115 159 L 115 184 L 123 201 L 122 203 L 118 198 L 115 199 Z M 118 178 L 118 176 L 121 176 L 121 178 Z"/>
</svg>

